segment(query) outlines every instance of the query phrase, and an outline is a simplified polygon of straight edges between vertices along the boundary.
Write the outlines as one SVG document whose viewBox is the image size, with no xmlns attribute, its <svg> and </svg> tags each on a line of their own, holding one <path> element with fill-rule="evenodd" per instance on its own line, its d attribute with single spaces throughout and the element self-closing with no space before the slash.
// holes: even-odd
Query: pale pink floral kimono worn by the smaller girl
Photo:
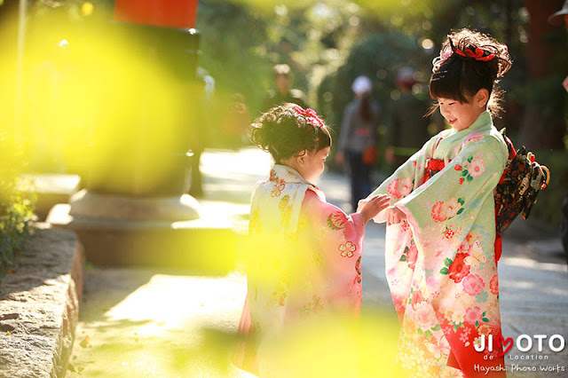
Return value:
<svg viewBox="0 0 568 378">
<path fill-rule="evenodd" d="M 327 203 L 296 170 L 275 165 L 250 210 L 248 295 L 233 360 L 272 375 L 271 343 L 288 325 L 340 312 L 359 314 L 365 222 Z"/>
</svg>

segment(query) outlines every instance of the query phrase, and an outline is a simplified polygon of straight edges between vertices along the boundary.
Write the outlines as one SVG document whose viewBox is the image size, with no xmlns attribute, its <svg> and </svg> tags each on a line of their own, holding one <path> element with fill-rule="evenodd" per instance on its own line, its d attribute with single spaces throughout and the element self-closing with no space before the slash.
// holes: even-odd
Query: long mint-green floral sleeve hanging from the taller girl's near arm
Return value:
<svg viewBox="0 0 568 378">
<path fill-rule="evenodd" d="M 493 135 L 469 141 L 444 169 L 396 204 L 422 255 L 413 280 L 425 283 L 420 295 L 428 298 L 449 343 L 448 365 L 466 376 L 477 374 L 476 366 L 503 366 L 496 350 L 474 348 L 482 335 L 493 340 L 501 335 L 493 189 L 506 159 L 502 141 Z M 413 303 L 416 295 L 410 295 Z M 434 329 L 428 325 L 420 332 Z"/>
</svg>

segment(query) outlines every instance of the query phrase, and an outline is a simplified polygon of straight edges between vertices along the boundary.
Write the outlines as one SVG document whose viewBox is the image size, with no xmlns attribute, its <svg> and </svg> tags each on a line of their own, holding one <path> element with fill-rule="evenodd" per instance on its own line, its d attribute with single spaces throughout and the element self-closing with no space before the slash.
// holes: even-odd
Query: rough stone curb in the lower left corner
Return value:
<svg viewBox="0 0 568 378">
<path fill-rule="evenodd" d="M 62 377 L 83 294 L 83 247 L 74 232 L 38 224 L 0 282 L 0 376 Z"/>
</svg>

